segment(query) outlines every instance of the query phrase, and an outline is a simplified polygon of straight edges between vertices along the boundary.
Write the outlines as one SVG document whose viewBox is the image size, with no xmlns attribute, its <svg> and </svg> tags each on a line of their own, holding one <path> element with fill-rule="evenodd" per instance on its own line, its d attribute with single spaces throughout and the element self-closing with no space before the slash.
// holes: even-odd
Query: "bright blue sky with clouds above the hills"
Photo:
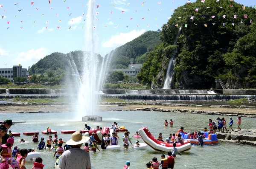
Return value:
<svg viewBox="0 0 256 169">
<path fill-rule="evenodd" d="M 105 56 L 145 31 L 161 29 L 173 10 L 187 1 L 96 0 L 97 52 Z M 234 1 L 256 5 L 255 0 Z M 87 3 L 88 0 L 0 0 L 0 68 L 18 64 L 28 68 L 53 52 L 83 50 Z"/>
</svg>

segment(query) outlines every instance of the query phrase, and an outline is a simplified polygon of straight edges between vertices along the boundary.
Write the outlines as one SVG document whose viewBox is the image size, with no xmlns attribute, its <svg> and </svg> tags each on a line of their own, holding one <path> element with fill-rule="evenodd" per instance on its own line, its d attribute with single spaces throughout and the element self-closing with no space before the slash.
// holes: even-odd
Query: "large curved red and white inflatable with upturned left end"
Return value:
<svg viewBox="0 0 256 169">
<path fill-rule="evenodd" d="M 151 146 L 151 148 L 153 148 L 154 150 L 163 152 L 172 151 L 172 144 L 157 140 L 153 135 L 151 135 L 151 132 L 149 132 L 147 127 L 143 127 L 142 129 L 140 129 L 139 133 L 144 142 Z M 189 141 L 186 140 L 183 143 L 177 143 L 176 148 L 179 152 L 188 151 L 189 149 L 191 149 L 191 144 L 189 143 Z"/>
</svg>

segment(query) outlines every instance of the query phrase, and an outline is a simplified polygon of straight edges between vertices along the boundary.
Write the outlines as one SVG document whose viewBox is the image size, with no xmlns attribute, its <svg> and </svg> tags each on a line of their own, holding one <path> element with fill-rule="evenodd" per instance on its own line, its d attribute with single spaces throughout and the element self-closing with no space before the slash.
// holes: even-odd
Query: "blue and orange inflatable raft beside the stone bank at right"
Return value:
<svg viewBox="0 0 256 169">
<path fill-rule="evenodd" d="M 209 132 L 201 132 L 201 133 L 203 133 L 206 138 L 203 140 L 204 144 L 209 145 L 209 144 L 218 143 L 218 138 L 216 134 L 209 134 Z M 181 134 L 181 137 L 184 140 L 188 140 L 191 144 L 199 144 L 198 140 L 190 138 L 190 134 Z"/>
</svg>

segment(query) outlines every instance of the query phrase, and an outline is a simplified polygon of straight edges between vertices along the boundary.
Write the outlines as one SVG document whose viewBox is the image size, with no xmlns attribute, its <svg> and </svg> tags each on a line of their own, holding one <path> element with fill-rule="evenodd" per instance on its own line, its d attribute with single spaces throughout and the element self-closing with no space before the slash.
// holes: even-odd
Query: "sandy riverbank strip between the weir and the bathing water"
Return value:
<svg viewBox="0 0 256 169">
<path fill-rule="evenodd" d="M 256 113 L 255 109 L 248 108 L 228 108 L 228 107 L 188 107 L 188 106 L 164 106 L 164 105 L 100 105 L 100 111 L 111 110 L 135 110 L 138 108 L 157 108 L 157 109 L 186 109 L 199 111 L 217 111 L 217 112 L 233 112 L 233 113 Z M 72 105 L 0 105 L 0 113 L 18 113 L 18 112 L 72 112 Z"/>
</svg>

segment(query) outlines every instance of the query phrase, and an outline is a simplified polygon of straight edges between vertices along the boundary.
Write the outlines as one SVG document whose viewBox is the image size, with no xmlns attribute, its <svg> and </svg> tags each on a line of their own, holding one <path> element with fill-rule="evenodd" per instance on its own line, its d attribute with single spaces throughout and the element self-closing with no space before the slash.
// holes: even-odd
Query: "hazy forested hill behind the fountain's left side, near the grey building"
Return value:
<svg viewBox="0 0 256 169">
<path fill-rule="evenodd" d="M 83 60 L 87 52 L 72 51 L 68 54 L 59 52 L 52 53 L 40 59 L 29 69 L 30 74 L 41 74 L 32 76 L 32 82 L 63 82 L 66 77 L 72 78 L 74 74 L 79 75 L 83 71 Z M 103 58 L 96 54 L 98 68 L 102 64 Z M 47 75 L 48 77 L 45 77 Z M 52 78 L 52 79 L 49 79 Z"/>
</svg>

